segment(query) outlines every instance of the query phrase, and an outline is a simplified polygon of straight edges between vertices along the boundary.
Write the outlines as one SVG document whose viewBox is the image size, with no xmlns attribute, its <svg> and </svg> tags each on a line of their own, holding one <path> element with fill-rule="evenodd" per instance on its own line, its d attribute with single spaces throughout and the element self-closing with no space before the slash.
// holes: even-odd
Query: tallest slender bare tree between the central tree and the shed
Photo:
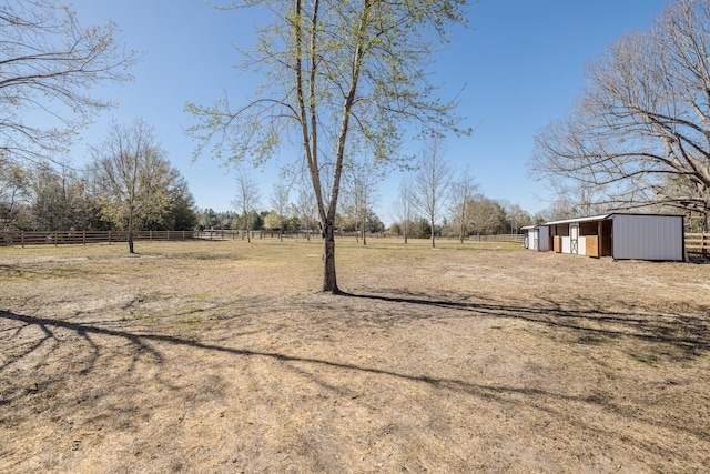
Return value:
<svg viewBox="0 0 710 474">
<path fill-rule="evenodd" d="M 436 221 L 449 198 L 452 169 L 444 158 L 444 141 L 434 135 L 424 143 L 419 170 L 415 175 L 415 206 L 429 220 L 432 248 L 436 246 Z"/>
</svg>

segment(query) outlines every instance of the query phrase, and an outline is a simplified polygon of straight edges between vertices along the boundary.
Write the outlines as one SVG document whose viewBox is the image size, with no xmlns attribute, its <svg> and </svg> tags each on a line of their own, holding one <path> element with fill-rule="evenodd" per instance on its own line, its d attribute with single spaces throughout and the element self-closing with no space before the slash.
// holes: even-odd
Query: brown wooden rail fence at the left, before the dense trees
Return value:
<svg viewBox="0 0 710 474">
<path fill-rule="evenodd" d="M 141 231 L 133 232 L 133 240 L 180 241 L 196 239 L 194 231 Z M 10 245 L 65 245 L 88 243 L 128 242 L 128 232 L 119 231 L 52 231 L 20 232 L 0 231 L 0 246 Z"/>
</svg>

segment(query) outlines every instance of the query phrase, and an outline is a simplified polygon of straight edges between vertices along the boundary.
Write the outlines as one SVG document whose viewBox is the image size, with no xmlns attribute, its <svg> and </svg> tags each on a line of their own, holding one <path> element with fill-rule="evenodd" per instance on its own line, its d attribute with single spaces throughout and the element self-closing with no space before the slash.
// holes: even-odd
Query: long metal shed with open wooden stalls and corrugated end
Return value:
<svg viewBox="0 0 710 474">
<path fill-rule="evenodd" d="M 659 261 L 683 261 L 686 255 L 682 215 L 610 213 L 544 225 L 558 253 Z"/>
</svg>

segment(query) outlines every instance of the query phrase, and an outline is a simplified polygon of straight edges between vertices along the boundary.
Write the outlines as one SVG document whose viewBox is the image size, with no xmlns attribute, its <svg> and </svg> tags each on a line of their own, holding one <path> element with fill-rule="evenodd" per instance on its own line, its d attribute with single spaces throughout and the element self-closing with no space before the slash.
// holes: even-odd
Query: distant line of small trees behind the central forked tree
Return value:
<svg viewBox="0 0 710 474">
<path fill-rule="evenodd" d="M 346 168 L 334 221 L 336 232 L 355 233 L 365 245 L 368 235 L 383 232 L 400 235 L 405 242 L 432 238 L 435 245 L 436 238 L 464 241 L 471 234 L 518 233 L 523 225 L 550 218 L 549 212 L 531 215 L 518 204 L 487 198 L 468 170 L 449 167 L 444 149 L 440 139 L 423 148 L 418 163 L 402 179 L 397 195 L 385 203 L 392 222 L 388 228 L 375 211 L 382 208 L 379 185 L 384 174 L 373 165 Z M 200 229 L 321 235 L 317 205 L 307 182 L 297 182 L 293 188 L 285 181 L 274 184 L 266 196 L 267 209 L 258 184 L 246 170 L 237 170 L 235 188 L 233 210 L 200 210 Z M 248 238 L 248 233 L 245 235 Z"/>
</svg>

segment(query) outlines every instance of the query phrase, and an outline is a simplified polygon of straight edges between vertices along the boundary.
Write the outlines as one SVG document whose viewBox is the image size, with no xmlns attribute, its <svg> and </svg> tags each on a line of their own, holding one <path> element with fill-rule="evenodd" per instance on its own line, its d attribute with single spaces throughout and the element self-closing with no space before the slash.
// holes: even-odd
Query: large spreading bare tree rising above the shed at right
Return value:
<svg viewBox="0 0 710 474">
<path fill-rule="evenodd" d="M 708 0 L 671 3 L 648 33 L 611 44 L 580 100 L 537 135 L 535 172 L 580 183 L 591 204 L 707 214 L 709 44 Z"/>
</svg>

